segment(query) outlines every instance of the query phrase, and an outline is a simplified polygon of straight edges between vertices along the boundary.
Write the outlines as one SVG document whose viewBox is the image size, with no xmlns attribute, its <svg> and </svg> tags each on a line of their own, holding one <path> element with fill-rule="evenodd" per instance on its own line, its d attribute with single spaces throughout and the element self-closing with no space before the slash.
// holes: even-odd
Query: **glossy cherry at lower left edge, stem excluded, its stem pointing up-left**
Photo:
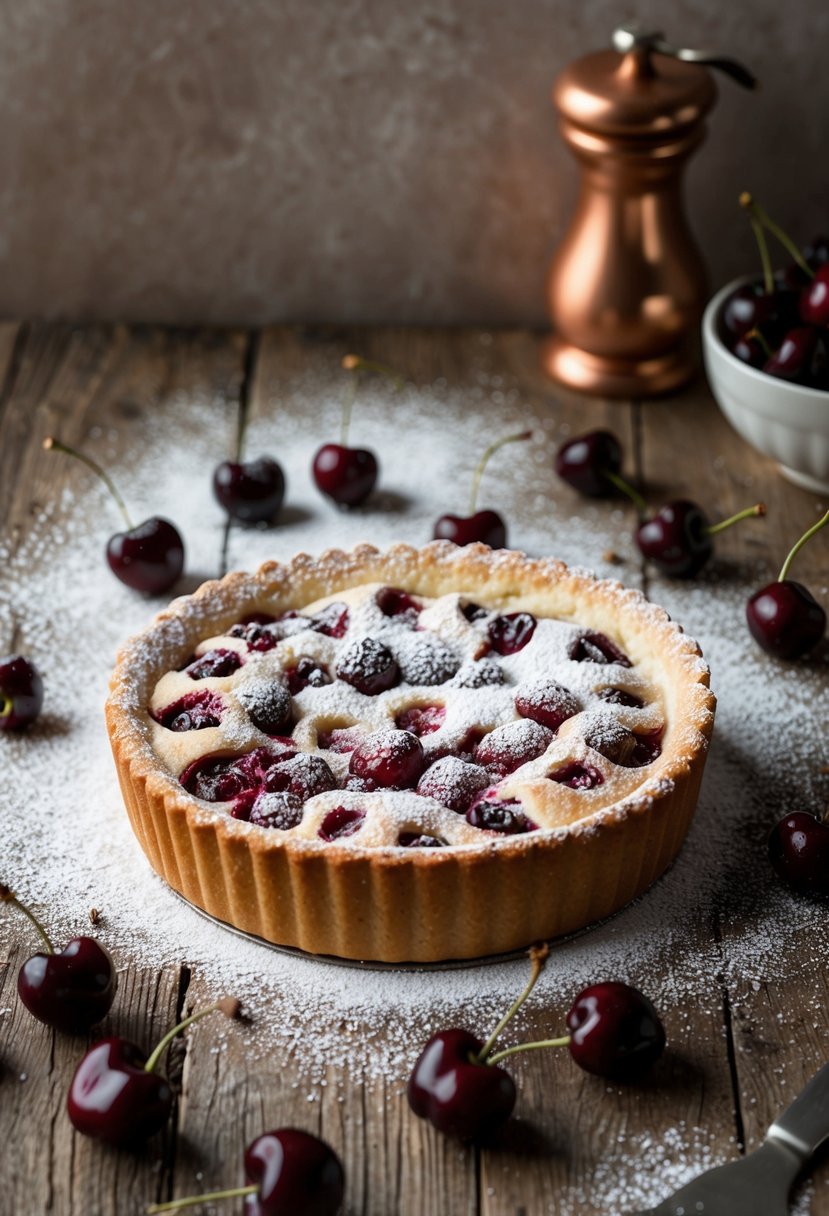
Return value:
<svg viewBox="0 0 829 1216">
<path fill-rule="evenodd" d="M 72 1035 L 106 1018 L 117 987 L 114 963 L 94 938 L 73 938 L 60 953 L 33 955 L 17 975 L 17 992 L 29 1013 Z"/>
</svg>

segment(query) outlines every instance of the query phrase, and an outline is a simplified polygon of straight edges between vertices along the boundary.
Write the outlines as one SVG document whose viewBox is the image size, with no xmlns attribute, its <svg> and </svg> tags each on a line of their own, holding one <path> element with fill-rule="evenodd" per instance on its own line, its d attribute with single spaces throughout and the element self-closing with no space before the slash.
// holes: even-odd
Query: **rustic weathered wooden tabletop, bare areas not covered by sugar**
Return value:
<svg viewBox="0 0 829 1216">
<path fill-rule="evenodd" d="M 11 558 L 24 544 L 43 503 L 55 501 L 62 486 L 77 484 L 77 467 L 68 461 L 56 463 L 55 457 L 43 452 L 46 434 L 57 432 L 67 441 L 95 450 L 96 437 L 117 427 L 113 441 L 129 455 L 130 435 L 142 426 L 146 443 L 151 416 L 163 418 L 194 394 L 213 402 L 221 449 L 230 443 L 237 404 L 252 420 L 287 417 L 297 377 L 315 364 L 335 368 L 342 354 L 351 348 L 404 370 L 416 385 L 480 385 L 483 370 L 487 409 L 492 409 L 494 400 L 496 405 L 502 400 L 511 418 L 524 411 L 546 420 L 551 443 L 568 427 L 611 426 L 627 445 L 631 471 L 648 486 L 652 501 L 667 492 L 688 496 L 720 516 L 755 496 L 765 499 L 765 525 L 734 529 L 722 536 L 716 578 L 703 578 L 698 593 L 707 590 L 716 597 L 723 586 L 750 586 L 763 575 L 773 575 L 794 536 L 816 518 L 816 497 L 785 483 L 771 462 L 732 433 L 704 383 L 662 404 L 583 402 L 554 393 L 537 373 L 537 339 L 526 333 L 377 328 L 275 330 L 252 336 L 6 325 L 0 327 L 4 568 L 11 568 Z M 470 415 L 484 407 L 481 393 L 472 388 L 468 401 Z M 450 401 L 446 409 L 452 407 Z M 305 418 L 303 424 L 312 433 L 314 420 Z M 408 417 L 401 424 L 416 426 L 417 420 Z M 547 492 L 552 492 L 548 463 L 545 475 Z M 537 485 L 528 486 L 526 510 L 537 514 L 543 502 L 538 503 L 536 491 Z M 630 545 L 625 547 L 631 516 L 624 505 L 585 505 L 559 485 L 554 494 L 557 523 L 551 527 L 551 551 L 557 548 L 556 531 L 566 533 L 568 516 L 592 512 L 597 520 L 605 522 L 607 546 L 628 554 L 616 573 L 654 598 L 666 595 L 670 601 L 671 589 L 632 561 Z M 511 502 L 511 519 L 519 518 L 521 508 L 519 496 Z M 413 537 L 405 534 L 405 539 Z M 236 530 L 222 534 L 216 528 L 213 567 L 203 573 L 214 574 L 229 563 L 239 563 L 244 552 L 238 546 L 243 541 Z M 275 547 L 282 554 L 301 544 L 300 519 L 289 537 L 277 537 Z M 585 559 L 594 563 L 598 557 L 592 553 Z M 824 537 L 803 552 L 797 578 L 812 585 L 825 602 L 829 544 Z M 5 602 L 11 602 L 11 595 Z M 735 620 L 734 627 L 740 630 L 741 623 Z M 0 619 L 0 651 L 23 641 L 32 643 L 24 630 L 19 631 L 19 621 L 7 613 Z M 47 655 L 38 658 L 47 665 Z M 825 777 L 814 776 L 829 759 L 825 651 L 812 659 L 814 666 L 824 672 L 823 699 L 812 699 L 802 713 L 793 704 L 785 715 L 789 721 L 779 722 L 780 731 L 796 730 L 801 741 L 810 734 L 814 739 L 807 749 L 812 771 L 797 771 L 802 769 L 799 761 L 791 772 L 782 775 L 780 788 L 788 801 L 776 792 L 771 805 L 761 806 L 748 827 L 743 824 L 734 841 L 738 856 L 762 852 L 765 833 L 782 811 L 799 800 L 818 810 L 816 800 L 829 794 Z M 774 681 L 777 666 L 769 664 L 768 671 L 768 680 Z M 715 688 L 716 676 L 715 670 Z M 751 713 L 750 705 L 745 713 Z M 758 762 L 765 739 L 758 737 L 756 744 L 756 756 L 741 759 L 746 773 Z M 39 745 L 39 738 L 33 736 L 30 745 Z M 0 739 L 0 756 L 2 748 Z M 21 762 L 19 748 L 15 755 Z M 802 758 L 802 748 L 797 755 Z M 13 766 L 10 776 L 6 760 L 0 759 L 0 772 L 2 823 L 4 817 L 21 814 L 21 807 L 16 805 Z M 2 877 L 15 883 L 15 856 L 2 849 L 0 858 Z M 514 1069 L 520 1087 L 518 1118 L 501 1143 L 486 1152 L 463 1149 L 414 1119 L 400 1075 L 367 1083 L 359 1069 L 332 1065 L 326 1075 L 328 1085 L 318 1088 L 318 1100 L 309 1104 L 308 1085 L 300 1083 L 305 1075 L 301 1045 L 266 1065 L 261 1058 L 248 1059 L 243 1046 L 233 1046 L 231 1036 L 227 1049 L 218 1055 L 207 1047 L 212 1034 L 208 1023 L 193 1028 L 171 1052 L 177 1099 L 168 1132 L 139 1155 L 102 1150 L 73 1133 L 64 1114 L 66 1088 L 83 1045 L 50 1032 L 18 1003 L 17 968 L 33 942 L 22 921 L 4 916 L 0 1214 L 130 1216 L 173 1194 L 198 1192 L 222 1181 L 235 1184 L 242 1145 L 266 1126 L 291 1124 L 318 1131 L 340 1153 L 348 1176 L 349 1216 L 607 1212 L 611 1207 L 600 1195 L 613 1193 L 607 1186 L 608 1170 L 624 1172 L 631 1155 L 637 1158 L 637 1170 L 654 1175 L 648 1194 L 658 1194 L 661 1175 L 665 1186 L 673 1178 L 672 1152 L 683 1155 L 689 1172 L 745 1152 L 829 1058 L 829 942 L 819 931 L 819 912 L 793 914 L 790 924 L 784 913 L 779 922 L 780 935 L 790 939 L 791 957 L 799 959 L 796 969 L 786 969 L 783 978 L 769 973 L 761 981 L 743 981 L 727 963 L 732 944 L 740 939 L 744 921 L 752 912 L 739 883 L 734 883 L 734 869 L 726 868 L 723 876 L 706 912 L 698 923 L 684 927 L 677 946 L 687 952 L 698 940 L 710 953 L 714 944 L 723 959 L 721 973 L 715 976 L 710 1000 L 681 1001 L 665 1008 L 671 1049 L 653 1076 L 643 1085 L 619 1090 L 580 1073 L 566 1053 L 519 1057 Z M 795 900 L 791 907 L 797 907 Z M 117 941 L 108 944 L 122 974 L 119 996 L 105 1031 L 153 1042 L 184 1009 L 210 997 L 202 978 L 191 974 L 187 966 L 159 969 L 147 964 L 146 958 L 136 963 Z M 659 987 L 659 981 L 660 976 L 654 976 L 653 986 Z M 565 998 L 553 1006 L 548 1001 L 534 1004 L 523 1030 L 541 1035 L 551 1025 L 560 1026 L 566 1006 Z M 411 1059 L 411 1045 L 401 1047 L 401 1055 Z M 604 1190 L 597 1192 L 600 1180 Z M 818 1167 L 811 1189 L 799 1199 L 801 1205 L 811 1203 L 814 1216 L 829 1214 L 827 1183 L 829 1170 Z"/>
</svg>

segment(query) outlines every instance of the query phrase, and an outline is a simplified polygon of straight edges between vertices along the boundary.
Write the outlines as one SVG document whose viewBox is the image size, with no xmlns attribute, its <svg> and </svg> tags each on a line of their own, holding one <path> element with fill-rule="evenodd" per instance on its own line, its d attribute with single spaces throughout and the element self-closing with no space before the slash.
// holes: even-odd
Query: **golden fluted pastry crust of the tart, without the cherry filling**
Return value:
<svg viewBox="0 0 829 1216">
<path fill-rule="evenodd" d="M 551 792 L 542 778 L 507 778 L 504 794 L 518 798 L 543 831 L 492 838 L 470 829 L 474 839 L 441 849 L 267 831 L 188 794 L 177 779 L 184 765 L 165 765 L 153 747 L 148 706 L 159 680 L 242 615 L 308 609 L 365 584 L 429 598 L 463 592 L 487 608 L 608 634 L 659 689 L 666 724 L 659 759 L 647 770 L 621 770 L 614 786 L 620 796 L 610 804 L 603 798 L 591 805 L 590 790 Z M 191 902 L 312 953 L 435 962 L 569 933 L 609 916 L 662 873 L 697 803 L 714 725 L 707 685 L 697 644 L 662 609 L 617 582 L 483 545 L 399 545 L 387 552 L 363 545 L 317 559 L 300 553 L 284 565 L 267 562 L 255 574 L 230 574 L 174 601 L 120 652 L 107 724 L 139 841 Z M 202 751 L 210 750 L 207 743 Z"/>
</svg>

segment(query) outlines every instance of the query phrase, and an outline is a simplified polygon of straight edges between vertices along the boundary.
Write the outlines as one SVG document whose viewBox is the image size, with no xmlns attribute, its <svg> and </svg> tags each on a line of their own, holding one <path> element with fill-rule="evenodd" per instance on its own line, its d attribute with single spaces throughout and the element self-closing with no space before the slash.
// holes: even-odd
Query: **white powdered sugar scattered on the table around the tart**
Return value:
<svg viewBox="0 0 829 1216">
<path fill-rule="evenodd" d="M 419 544 L 441 511 L 463 506 L 463 478 L 476 458 L 480 420 L 504 433 L 528 424 L 528 409 L 514 389 L 487 385 L 474 398 L 445 384 L 407 389 L 394 410 L 384 393 L 368 390 L 355 415 L 354 440 L 371 440 L 380 455 L 378 505 L 340 516 L 318 499 L 308 475 L 314 449 L 334 430 L 338 385 L 309 375 L 295 388 L 291 418 L 281 399 L 273 402 L 289 522 L 270 533 L 235 531 L 233 565 L 253 569 L 265 558 L 286 558 L 300 548 L 348 548 L 366 537 L 378 545 L 400 539 Z M 469 406 L 476 416 L 464 416 Z M 222 455 L 215 439 L 220 407 L 208 399 L 174 398 L 152 418 L 130 423 L 129 458 L 109 460 L 136 513 L 152 510 L 181 527 L 191 586 L 218 573 L 224 520 L 209 483 Z M 399 441 L 395 421 L 402 417 L 417 420 L 406 444 Z M 529 421 L 536 443 L 504 454 L 497 478 L 485 478 L 481 502 L 504 513 L 513 544 L 531 552 L 553 550 L 565 561 L 617 574 L 603 565 L 602 554 L 611 545 L 630 559 L 627 512 L 586 503 L 580 518 L 559 518 L 551 531 L 557 519 L 549 443 L 554 421 Z M 108 461 L 114 439 L 114 433 L 91 437 L 92 454 Z M 249 450 L 272 446 L 271 426 L 258 422 Z M 186 451 L 186 458 L 171 460 L 175 451 Z M 458 478 L 463 488 L 456 502 L 447 488 Z M 520 989 L 525 964 L 428 973 L 331 967 L 214 925 L 153 876 L 122 807 L 102 705 L 117 648 L 158 606 L 112 579 L 102 558 L 108 507 L 83 471 L 71 484 L 60 502 L 33 517 L 16 551 L 11 539 L 0 546 L 2 629 L 10 640 L 17 627 L 17 648 L 35 659 L 46 682 L 41 721 L 28 736 L 0 739 L 4 769 L 12 775 L 0 789 L 2 878 L 35 907 L 49 910 L 58 936 L 81 931 L 95 906 L 105 916 L 101 936 L 122 964 L 186 962 L 216 991 L 232 989 L 255 1019 L 255 1032 L 246 1038 L 252 1057 L 287 1052 L 310 1081 L 345 1060 L 368 1075 L 402 1081 L 411 1054 L 389 1041 L 390 1023 L 405 1017 L 412 1041 L 458 1019 L 486 1024 L 502 1012 L 504 992 Z M 827 721 L 825 660 L 822 668 L 817 662 L 782 666 L 756 649 L 744 629 L 743 604 L 757 573 L 737 572 L 722 584 L 711 575 L 690 587 L 660 586 L 658 598 L 701 642 L 720 698 L 699 811 L 677 863 L 649 894 L 609 923 L 557 946 L 534 993 L 535 1007 L 562 1007 L 583 984 L 613 976 L 638 983 L 664 1009 L 692 1001 L 716 1008 L 722 973 L 738 990 L 768 975 L 791 975 L 801 964 L 791 944 L 802 939 L 810 941 L 811 957 L 827 957 L 824 910 L 784 891 L 763 855 L 766 831 L 779 814 L 795 804 L 818 809 L 825 800 L 825 778 L 818 772 L 825 756 L 814 743 Z M 814 590 L 825 596 L 825 589 Z M 714 916 L 723 927 L 722 945 L 698 931 Z M 2 917 L 0 940 L 27 941 L 27 930 Z M 811 958 L 806 966 L 813 966 Z M 816 1018 L 824 1019 L 817 1000 Z M 654 1148 L 660 1165 L 643 1172 L 641 1160 L 653 1160 Z M 625 1165 L 633 1159 L 636 1165 Z M 714 1158 L 704 1135 L 677 1124 L 656 1145 L 639 1137 L 617 1152 L 609 1149 L 590 1200 L 620 1210 L 653 1203 L 707 1164 Z M 568 1201 L 577 1212 L 579 1197 L 562 1199 Z"/>
</svg>

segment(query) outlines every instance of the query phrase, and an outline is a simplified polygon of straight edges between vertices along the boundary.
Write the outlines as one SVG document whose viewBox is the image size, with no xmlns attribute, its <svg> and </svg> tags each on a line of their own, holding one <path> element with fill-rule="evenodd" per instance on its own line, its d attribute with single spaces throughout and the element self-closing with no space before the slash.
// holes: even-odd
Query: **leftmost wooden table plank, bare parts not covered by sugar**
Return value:
<svg viewBox="0 0 829 1216">
<path fill-rule="evenodd" d="M 62 491 L 84 475 L 72 461 L 43 451 L 46 434 L 57 433 L 120 467 L 134 460 L 136 450 L 145 450 L 159 413 L 169 421 L 186 412 L 190 399 L 207 402 L 219 433 L 229 402 L 238 394 L 243 350 L 244 336 L 238 333 L 32 326 L 18 345 L 0 413 L 0 518 L 10 551 L 24 540 L 30 517 L 45 505 L 60 525 Z M 215 573 L 218 562 L 216 542 L 207 573 Z M 4 629 L 9 632 L 9 623 Z M 11 814 L 11 807 L 1 811 Z M 4 878 L 13 882 L 11 861 L 7 868 Z M 140 1154 L 111 1152 L 73 1132 L 64 1111 L 66 1091 L 84 1040 L 51 1034 L 17 1002 L 17 964 L 30 938 L 22 924 L 12 917 L 0 919 L 0 957 L 9 956 L 0 1008 L 10 1010 L 0 1018 L 0 1144 L 7 1162 L 0 1210 L 6 1210 L 7 1199 L 9 1210 L 16 1212 L 112 1216 L 125 1211 L 126 1203 L 140 1212 L 160 1198 L 169 1177 L 177 1143 L 175 1120 Z M 120 991 L 101 1030 L 124 1034 L 148 1048 L 176 1019 L 180 969 L 137 967 L 119 957 L 117 945 L 113 952 Z M 175 1074 L 179 1049 L 170 1055 L 168 1066 Z"/>
</svg>

